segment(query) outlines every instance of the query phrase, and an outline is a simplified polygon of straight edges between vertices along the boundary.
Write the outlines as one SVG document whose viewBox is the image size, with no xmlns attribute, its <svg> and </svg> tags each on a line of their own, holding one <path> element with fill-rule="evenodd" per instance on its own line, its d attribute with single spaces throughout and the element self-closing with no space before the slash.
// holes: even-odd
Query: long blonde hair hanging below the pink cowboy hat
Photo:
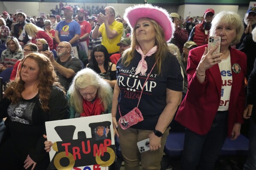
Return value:
<svg viewBox="0 0 256 170">
<path fill-rule="evenodd" d="M 155 61 L 156 61 L 157 72 L 158 74 L 160 74 L 162 62 L 165 60 L 165 57 L 167 56 L 169 49 L 165 40 L 165 34 L 162 27 L 159 26 L 159 24 L 156 23 L 155 20 L 152 20 L 150 18 L 147 18 L 147 19 L 150 21 L 150 23 L 152 23 L 156 33 L 155 44 L 157 46 L 157 51 L 155 53 Z M 131 47 L 125 50 L 122 55 L 122 63 L 126 67 L 129 66 L 129 64 L 131 63 L 131 60 L 135 54 L 136 46 L 139 45 L 136 39 L 135 32 L 136 32 L 136 26 L 132 29 Z"/>
</svg>

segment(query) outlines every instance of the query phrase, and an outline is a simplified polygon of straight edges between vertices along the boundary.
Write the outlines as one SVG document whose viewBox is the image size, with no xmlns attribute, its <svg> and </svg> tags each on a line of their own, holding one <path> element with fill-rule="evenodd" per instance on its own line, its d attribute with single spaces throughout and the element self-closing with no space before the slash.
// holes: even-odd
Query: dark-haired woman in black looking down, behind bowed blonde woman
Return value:
<svg viewBox="0 0 256 170">
<path fill-rule="evenodd" d="M 105 46 L 97 45 L 91 52 L 92 63 L 86 67 L 93 69 L 105 81 L 107 81 L 112 88 L 116 83 L 116 65 L 109 60 L 109 53 Z"/>
</svg>

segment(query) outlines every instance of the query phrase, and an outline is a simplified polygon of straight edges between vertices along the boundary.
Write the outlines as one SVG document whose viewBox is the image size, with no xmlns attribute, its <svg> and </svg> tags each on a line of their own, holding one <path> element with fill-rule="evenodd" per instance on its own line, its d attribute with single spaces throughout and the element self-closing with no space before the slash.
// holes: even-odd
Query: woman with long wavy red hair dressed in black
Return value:
<svg viewBox="0 0 256 170">
<path fill-rule="evenodd" d="M 45 122 L 67 118 L 68 102 L 47 57 L 31 53 L 21 65 L 20 78 L 9 82 L 0 102 L 0 118 L 7 117 L 0 146 L 1 169 L 46 170 L 50 158 L 44 152 Z M 17 118 L 14 111 L 20 112 L 20 104 L 24 112 Z"/>
</svg>

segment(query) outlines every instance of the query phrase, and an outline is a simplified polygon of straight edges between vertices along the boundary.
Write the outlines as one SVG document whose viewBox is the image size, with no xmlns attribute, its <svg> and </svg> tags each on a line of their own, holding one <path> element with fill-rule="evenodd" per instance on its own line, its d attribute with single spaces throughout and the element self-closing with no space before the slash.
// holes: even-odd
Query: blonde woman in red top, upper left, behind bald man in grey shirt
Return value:
<svg viewBox="0 0 256 170">
<path fill-rule="evenodd" d="M 35 24 L 27 23 L 24 26 L 25 31 L 27 34 L 32 37 L 31 42 L 36 43 L 37 39 L 44 38 L 49 45 L 50 50 L 53 49 L 53 39 L 41 28 L 35 26 Z"/>
</svg>

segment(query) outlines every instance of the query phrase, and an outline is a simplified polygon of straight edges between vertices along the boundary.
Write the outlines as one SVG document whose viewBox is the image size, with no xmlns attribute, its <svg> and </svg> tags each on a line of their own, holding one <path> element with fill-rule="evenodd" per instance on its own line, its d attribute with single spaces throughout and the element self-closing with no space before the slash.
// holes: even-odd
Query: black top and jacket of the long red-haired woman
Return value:
<svg viewBox="0 0 256 170">
<path fill-rule="evenodd" d="M 19 155 L 23 161 L 28 154 L 35 162 L 40 162 L 47 156 L 43 138 L 45 122 L 65 119 L 68 115 L 68 102 L 59 87 L 53 86 L 48 107 L 50 112 L 44 112 L 41 109 L 38 95 L 29 100 L 22 99 L 16 104 L 4 98 L 0 102 L 0 117 L 7 116 L 8 118 L 6 119 L 6 134 L 0 150 L 2 147 L 12 147 L 16 152 L 13 154 Z M 19 112 L 22 110 L 22 116 L 15 114 L 17 108 Z M 0 155 L 2 154 L 4 153 L 0 153 Z"/>
</svg>

